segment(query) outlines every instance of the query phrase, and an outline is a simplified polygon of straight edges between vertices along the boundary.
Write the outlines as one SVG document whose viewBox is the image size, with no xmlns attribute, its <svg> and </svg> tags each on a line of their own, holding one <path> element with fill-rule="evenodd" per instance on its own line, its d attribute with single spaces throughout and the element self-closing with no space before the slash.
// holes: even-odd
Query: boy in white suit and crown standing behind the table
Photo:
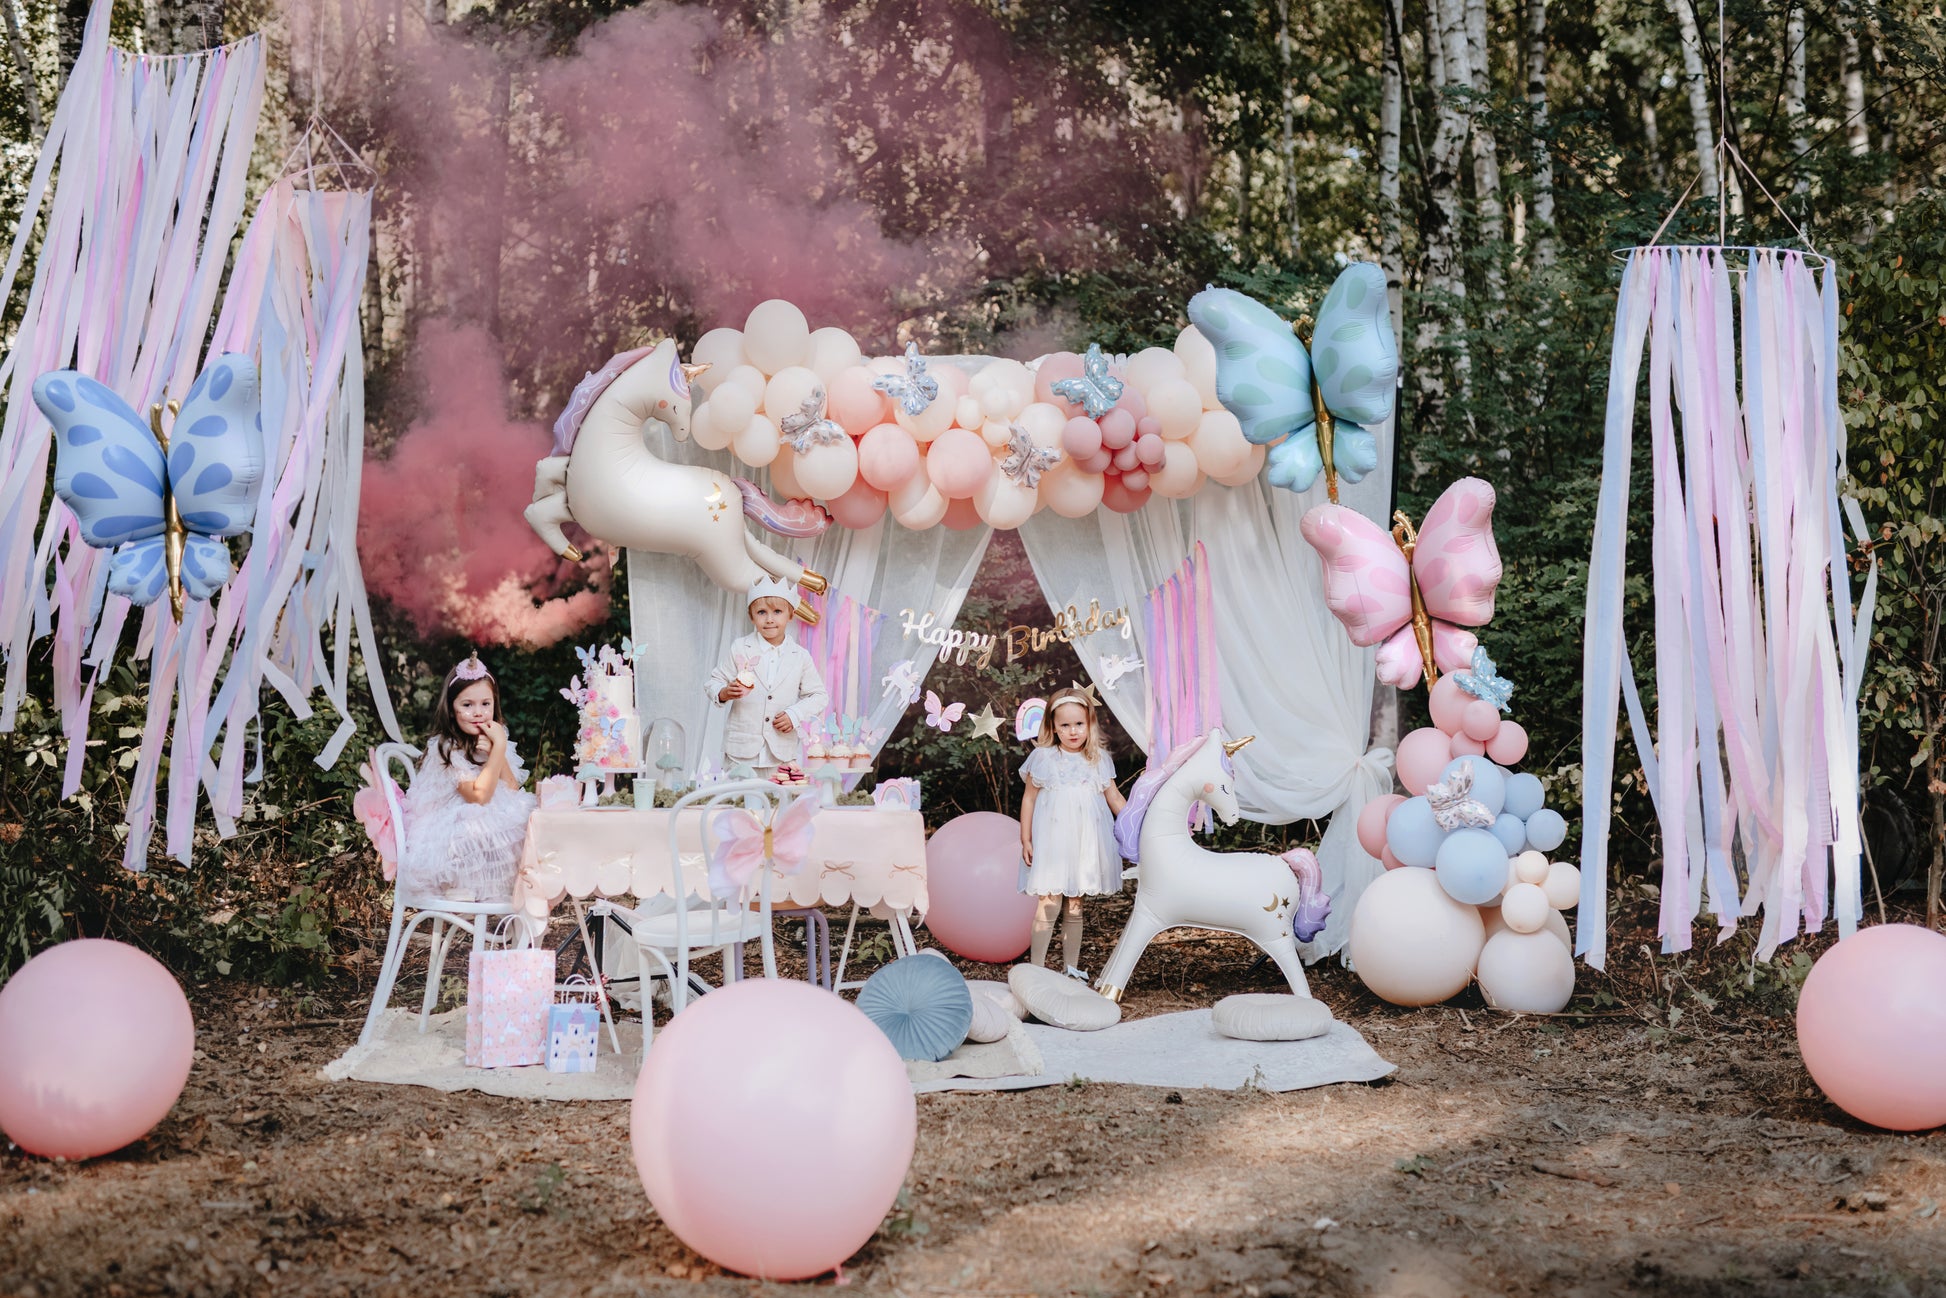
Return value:
<svg viewBox="0 0 1946 1298">
<path fill-rule="evenodd" d="M 759 778 L 796 767 L 804 753 L 804 724 L 829 706 L 825 683 L 810 650 L 790 636 L 798 588 L 765 578 L 749 588 L 755 634 L 738 636 L 730 662 L 710 671 L 710 703 L 728 703 L 724 765 L 745 763 Z"/>
</svg>

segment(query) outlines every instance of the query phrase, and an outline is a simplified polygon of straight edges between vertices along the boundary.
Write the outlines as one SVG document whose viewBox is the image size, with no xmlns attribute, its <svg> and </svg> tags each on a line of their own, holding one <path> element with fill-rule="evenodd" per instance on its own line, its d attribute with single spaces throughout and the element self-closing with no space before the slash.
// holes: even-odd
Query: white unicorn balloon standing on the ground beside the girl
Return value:
<svg viewBox="0 0 1946 1298">
<path fill-rule="evenodd" d="M 1304 848 L 1282 856 L 1212 852 L 1189 829 L 1189 808 L 1197 802 L 1216 811 L 1224 825 L 1236 823 L 1236 767 L 1230 759 L 1251 738 L 1232 741 L 1222 730 L 1212 730 L 1189 739 L 1150 763 L 1129 790 L 1129 806 L 1115 817 L 1115 841 L 1123 856 L 1142 866 L 1142 874 L 1129 924 L 1096 979 L 1096 991 L 1109 1000 L 1121 1000 L 1135 963 L 1156 934 L 1183 926 L 1249 938 L 1284 971 L 1290 991 L 1312 994 L 1298 942 L 1315 938 L 1331 915 L 1317 858 Z"/>
</svg>

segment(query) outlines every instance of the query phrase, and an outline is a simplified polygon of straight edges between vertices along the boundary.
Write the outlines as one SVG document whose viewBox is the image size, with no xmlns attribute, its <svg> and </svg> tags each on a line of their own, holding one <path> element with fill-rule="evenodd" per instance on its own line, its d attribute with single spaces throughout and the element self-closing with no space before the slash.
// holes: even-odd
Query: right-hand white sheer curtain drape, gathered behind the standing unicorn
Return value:
<svg viewBox="0 0 1946 1298">
<path fill-rule="evenodd" d="M 1298 535 L 1298 520 L 1323 498 L 1321 481 L 1304 494 L 1265 479 L 1210 483 L 1189 500 L 1152 498 L 1135 514 L 1098 510 L 1066 520 L 1043 510 L 1020 529 L 1047 601 L 1082 611 L 1090 599 L 1129 605 L 1144 664 L 1152 646 L 1142 601 L 1203 541 L 1216 592 L 1222 722 L 1232 736 L 1257 736 L 1238 753 L 1243 813 L 1273 825 L 1331 817 L 1317 850 L 1331 920 L 1304 948 L 1306 959 L 1345 946 L 1352 907 L 1382 872 L 1358 847 L 1358 811 L 1391 790 L 1391 751 L 1366 751 L 1372 650 L 1356 648 L 1331 617 L 1317 555 Z M 1380 475 L 1343 485 L 1341 502 L 1380 520 L 1389 487 Z M 1092 679 L 1099 679 L 1103 656 L 1129 652 L 1117 632 L 1076 640 L 1074 650 Z M 1150 687 L 1144 667 L 1099 691 L 1144 749 Z"/>
</svg>

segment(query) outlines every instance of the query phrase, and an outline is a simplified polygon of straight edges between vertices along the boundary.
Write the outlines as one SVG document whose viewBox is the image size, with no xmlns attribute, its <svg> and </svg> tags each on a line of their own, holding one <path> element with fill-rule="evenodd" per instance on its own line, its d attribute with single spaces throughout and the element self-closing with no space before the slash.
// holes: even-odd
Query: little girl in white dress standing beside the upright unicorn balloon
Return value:
<svg viewBox="0 0 1946 1298">
<path fill-rule="evenodd" d="M 1072 977 L 1086 977 L 1082 897 L 1121 891 L 1115 813 L 1123 808 L 1115 761 L 1101 747 L 1088 695 L 1063 689 L 1047 703 L 1020 778 L 1027 786 L 1020 800 L 1020 891 L 1041 899 L 1033 911 L 1031 959 L 1047 961 L 1055 915 L 1066 899 L 1061 955 Z"/>
</svg>

